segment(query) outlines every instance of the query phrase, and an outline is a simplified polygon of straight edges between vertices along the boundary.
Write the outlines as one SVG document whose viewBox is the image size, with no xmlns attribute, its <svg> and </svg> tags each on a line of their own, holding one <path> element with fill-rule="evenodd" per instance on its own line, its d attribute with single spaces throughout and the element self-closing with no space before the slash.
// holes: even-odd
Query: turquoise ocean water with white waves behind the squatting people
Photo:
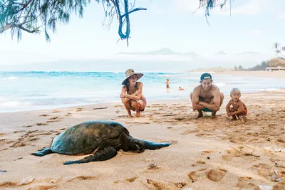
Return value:
<svg viewBox="0 0 285 190">
<path fill-rule="evenodd" d="M 140 79 L 147 100 L 188 98 L 201 73 L 144 73 Z M 285 88 L 285 80 L 213 75 L 214 83 L 229 94 Z M 170 79 L 170 90 L 165 81 Z M 110 72 L 0 72 L 0 112 L 41 110 L 100 102 L 120 102 L 125 73 Z M 179 91 L 182 86 L 184 91 Z"/>
</svg>

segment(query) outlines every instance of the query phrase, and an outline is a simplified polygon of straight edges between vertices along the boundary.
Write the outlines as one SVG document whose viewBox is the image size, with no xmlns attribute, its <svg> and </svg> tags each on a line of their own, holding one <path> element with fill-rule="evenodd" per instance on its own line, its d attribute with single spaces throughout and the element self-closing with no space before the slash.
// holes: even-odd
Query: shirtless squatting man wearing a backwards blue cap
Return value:
<svg viewBox="0 0 285 190">
<path fill-rule="evenodd" d="M 194 88 L 190 94 L 192 109 L 199 112 L 197 118 L 203 117 L 203 112 L 212 112 L 212 118 L 216 118 L 216 112 L 221 107 L 224 94 L 219 88 L 212 84 L 212 75 L 204 73 L 200 77 L 200 85 Z"/>
</svg>

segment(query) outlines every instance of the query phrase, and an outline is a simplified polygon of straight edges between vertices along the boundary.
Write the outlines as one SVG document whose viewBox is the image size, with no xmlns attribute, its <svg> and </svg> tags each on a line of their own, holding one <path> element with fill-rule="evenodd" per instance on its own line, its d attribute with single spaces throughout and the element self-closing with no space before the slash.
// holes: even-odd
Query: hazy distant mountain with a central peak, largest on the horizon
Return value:
<svg viewBox="0 0 285 190">
<path fill-rule="evenodd" d="M 120 52 L 119 55 L 184 55 L 184 56 L 192 56 L 193 58 L 197 58 L 198 54 L 195 52 L 187 52 L 180 53 L 176 51 L 172 51 L 170 48 L 161 48 L 160 50 L 155 51 L 147 51 L 147 52 Z"/>
</svg>

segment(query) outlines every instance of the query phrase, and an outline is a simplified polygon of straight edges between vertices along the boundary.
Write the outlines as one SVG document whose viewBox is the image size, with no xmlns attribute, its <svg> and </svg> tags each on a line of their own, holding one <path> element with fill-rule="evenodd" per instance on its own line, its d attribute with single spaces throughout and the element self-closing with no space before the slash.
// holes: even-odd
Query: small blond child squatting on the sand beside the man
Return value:
<svg viewBox="0 0 285 190">
<path fill-rule="evenodd" d="M 231 117 L 233 120 L 238 120 L 240 116 L 247 116 L 247 106 L 244 105 L 242 100 L 239 100 L 241 97 L 241 92 L 238 88 L 233 88 L 231 90 L 232 100 L 229 100 L 227 103 L 226 110 L 227 116 Z M 230 107 L 232 105 L 232 107 Z"/>
</svg>

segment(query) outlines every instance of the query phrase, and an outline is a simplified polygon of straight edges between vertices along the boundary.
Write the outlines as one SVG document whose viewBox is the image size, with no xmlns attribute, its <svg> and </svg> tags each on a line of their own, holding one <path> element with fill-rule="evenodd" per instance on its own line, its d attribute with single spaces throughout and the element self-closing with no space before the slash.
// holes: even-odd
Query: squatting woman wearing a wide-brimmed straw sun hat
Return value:
<svg viewBox="0 0 285 190">
<path fill-rule="evenodd" d="M 125 80 L 122 83 L 124 86 L 120 98 L 128 111 L 129 117 L 132 117 L 130 110 L 135 111 L 137 117 L 140 117 L 140 112 L 143 112 L 145 105 L 147 105 L 147 100 L 142 95 L 142 83 L 137 82 L 142 75 L 142 73 L 135 73 L 133 69 L 125 71 Z"/>
</svg>

